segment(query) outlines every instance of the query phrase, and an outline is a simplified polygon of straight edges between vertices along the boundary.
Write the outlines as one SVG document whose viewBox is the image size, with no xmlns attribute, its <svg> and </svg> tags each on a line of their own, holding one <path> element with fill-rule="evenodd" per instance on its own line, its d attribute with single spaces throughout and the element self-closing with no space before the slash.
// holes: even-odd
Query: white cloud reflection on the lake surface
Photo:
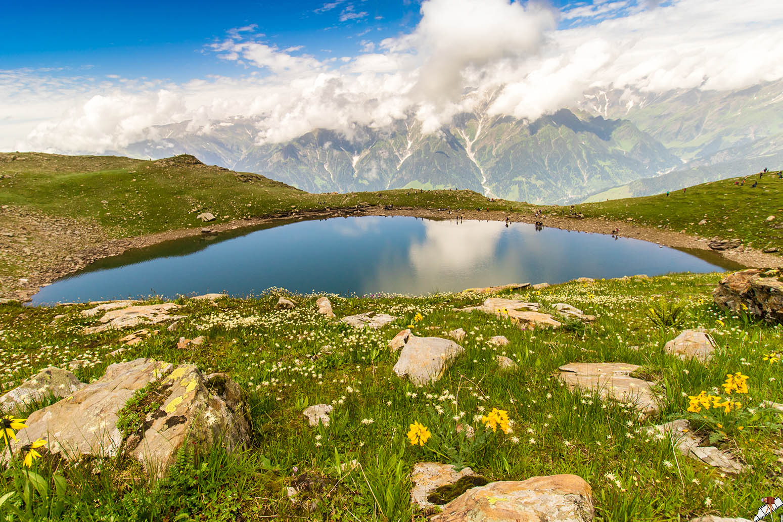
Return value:
<svg viewBox="0 0 783 522">
<path fill-rule="evenodd" d="M 424 277 L 470 271 L 494 257 L 504 228 L 500 222 L 425 220 L 426 236 L 410 245 L 410 264 Z"/>
</svg>

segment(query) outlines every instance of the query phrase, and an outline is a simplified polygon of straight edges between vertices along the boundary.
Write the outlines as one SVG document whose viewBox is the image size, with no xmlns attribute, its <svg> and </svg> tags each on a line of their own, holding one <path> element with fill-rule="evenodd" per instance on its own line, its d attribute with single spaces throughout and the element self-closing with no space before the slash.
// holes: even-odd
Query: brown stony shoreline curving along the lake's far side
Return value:
<svg viewBox="0 0 783 522">
<path fill-rule="evenodd" d="M 6 209 L 5 214 L 10 214 L 11 212 L 9 211 L 16 212 L 17 215 L 19 215 L 21 209 Z M 22 213 L 21 215 L 24 214 Z M 570 230 L 573 232 L 608 234 L 614 229 L 619 229 L 620 236 L 642 239 L 666 247 L 716 252 L 716 250 L 709 247 L 710 239 L 708 238 L 656 229 L 644 225 L 636 225 L 629 221 L 597 218 L 575 219 L 554 215 L 536 216 L 534 214 L 520 214 L 518 212 L 506 211 L 449 211 L 447 209 L 435 208 L 388 208 L 383 206 L 327 208 L 318 211 L 294 210 L 259 218 L 229 221 L 227 223 L 218 223 L 215 225 L 210 224 L 205 228 L 169 230 L 166 232 L 157 232 L 145 236 L 122 239 L 108 239 L 105 235 L 102 236 L 97 233 L 95 226 L 84 225 L 75 220 L 50 220 L 57 221 L 58 223 L 60 223 L 60 221 L 69 221 L 66 227 L 57 229 L 65 229 L 65 232 L 61 235 L 62 240 L 58 240 L 59 238 L 57 236 L 60 234 L 47 233 L 47 238 L 49 239 L 49 241 L 46 242 L 47 244 L 34 246 L 31 243 L 27 243 L 27 240 L 24 243 L 10 241 L 9 239 L 13 239 L 13 232 L 8 232 L 11 233 L 12 236 L 0 238 L 0 241 L 5 239 L 4 242 L 6 243 L 0 246 L 4 247 L 6 251 L 9 251 L 11 257 L 26 259 L 26 264 L 29 263 L 34 266 L 34 269 L 22 279 L 14 278 L 10 275 L 0 276 L 0 299 L 30 301 L 31 297 L 37 293 L 42 286 L 47 286 L 56 279 L 78 272 L 78 270 L 85 268 L 93 261 L 97 261 L 104 257 L 117 256 L 128 250 L 150 247 L 157 243 L 163 243 L 164 241 L 170 241 L 172 239 L 200 236 L 206 229 L 208 229 L 210 233 L 220 233 L 238 229 L 252 229 L 259 225 L 275 223 L 276 221 L 299 221 L 348 216 L 410 216 L 431 219 L 453 219 L 459 217 L 470 220 L 509 221 L 529 224 L 536 223 L 536 221 L 542 221 L 544 226 Z M 40 217 L 35 216 L 35 218 L 36 221 L 33 222 L 35 225 L 38 225 L 37 220 Z M 29 223 L 27 223 L 27 225 L 29 225 Z M 23 230 L 27 228 L 25 225 L 20 225 L 20 227 Z M 82 231 L 81 229 L 84 230 Z M 83 236 L 80 232 L 84 232 Z M 84 240 L 74 243 L 74 237 Z M 68 250 L 70 254 L 63 255 L 63 252 L 60 250 Z M 731 250 L 721 250 L 720 252 L 716 252 L 716 254 L 720 254 L 720 256 L 727 260 L 751 268 L 783 265 L 783 259 L 778 255 L 765 254 L 761 250 L 743 246 Z"/>
</svg>

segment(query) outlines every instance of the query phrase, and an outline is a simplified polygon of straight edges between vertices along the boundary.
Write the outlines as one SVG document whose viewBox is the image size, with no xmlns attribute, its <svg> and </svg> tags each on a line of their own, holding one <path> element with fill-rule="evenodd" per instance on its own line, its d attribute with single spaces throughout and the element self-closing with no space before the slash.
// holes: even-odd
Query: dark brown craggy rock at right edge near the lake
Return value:
<svg viewBox="0 0 783 522">
<path fill-rule="evenodd" d="M 783 323 L 783 270 L 749 268 L 727 275 L 713 290 L 713 301 L 735 314 Z"/>
</svg>

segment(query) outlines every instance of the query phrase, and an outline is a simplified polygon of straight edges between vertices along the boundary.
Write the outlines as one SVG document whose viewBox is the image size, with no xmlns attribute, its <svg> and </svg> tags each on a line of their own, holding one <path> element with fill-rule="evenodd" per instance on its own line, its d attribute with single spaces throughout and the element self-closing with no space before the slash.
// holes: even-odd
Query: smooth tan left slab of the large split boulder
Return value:
<svg viewBox="0 0 783 522">
<path fill-rule="evenodd" d="M 136 391 L 170 371 L 170 364 L 146 358 L 109 365 L 96 382 L 31 413 L 27 427 L 16 433 L 14 453 L 18 455 L 21 446 L 45 438 L 49 452 L 66 459 L 117 455 L 122 443 L 117 413 Z M 0 459 L 7 462 L 4 455 Z"/>
</svg>

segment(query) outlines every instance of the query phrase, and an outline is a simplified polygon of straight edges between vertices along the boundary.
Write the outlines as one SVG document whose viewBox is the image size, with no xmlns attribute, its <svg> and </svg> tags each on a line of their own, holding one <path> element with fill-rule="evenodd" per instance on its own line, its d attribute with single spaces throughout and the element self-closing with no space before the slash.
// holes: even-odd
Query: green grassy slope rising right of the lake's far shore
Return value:
<svg viewBox="0 0 783 522">
<path fill-rule="evenodd" d="M 751 175 L 744 186 L 734 185 L 742 178 L 707 182 L 675 190 L 666 196 L 645 196 L 603 203 L 582 203 L 576 211 L 590 218 L 626 220 L 694 236 L 740 238 L 759 249 L 783 250 L 783 179 L 778 172 L 759 178 Z M 759 182 L 752 188 L 753 182 Z M 770 215 L 774 221 L 766 221 Z M 699 221 L 706 220 L 704 225 Z"/>
</svg>

